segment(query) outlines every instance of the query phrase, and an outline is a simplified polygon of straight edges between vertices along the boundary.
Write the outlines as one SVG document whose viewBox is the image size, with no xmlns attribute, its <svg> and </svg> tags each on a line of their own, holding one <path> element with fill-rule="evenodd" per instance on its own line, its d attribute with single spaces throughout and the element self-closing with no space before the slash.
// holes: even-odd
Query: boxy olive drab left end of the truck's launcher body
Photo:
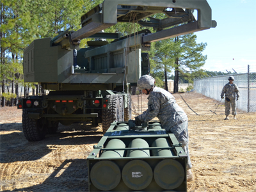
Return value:
<svg viewBox="0 0 256 192">
<path fill-rule="evenodd" d="M 73 51 L 61 49 L 60 46 L 51 47 L 50 42 L 51 38 L 34 40 L 31 44 L 33 47 L 28 47 L 24 51 L 25 82 L 63 83 L 67 81 L 73 65 Z"/>
</svg>

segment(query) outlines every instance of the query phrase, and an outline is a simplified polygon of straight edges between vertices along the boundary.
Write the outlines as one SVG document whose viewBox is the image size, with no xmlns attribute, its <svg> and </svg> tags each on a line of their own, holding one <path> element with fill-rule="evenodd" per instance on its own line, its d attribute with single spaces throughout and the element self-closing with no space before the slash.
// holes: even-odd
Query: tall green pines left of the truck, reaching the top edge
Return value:
<svg viewBox="0 0 256 192">
<path fill-rule="evenodd" d="M 86 12 L 88 0 L 3 0 L 1 1 L 1 84 L 3 105 L 6 98 L 19 95 L 18 85 L 14 93 L 14 83 L 20 83 L 24 49 L 37 38 L 54 37 L 58 31 L 73 27 L 80 28 L 80 17 Z M 8 85 L 12 84 L 10 91 Z M 24 88 L 37 85 L 26 83 Z M 8 88 L 10 92 L 4 93 Z M 13 99 L 11 101 L 13 104 Z"/>
</svg>

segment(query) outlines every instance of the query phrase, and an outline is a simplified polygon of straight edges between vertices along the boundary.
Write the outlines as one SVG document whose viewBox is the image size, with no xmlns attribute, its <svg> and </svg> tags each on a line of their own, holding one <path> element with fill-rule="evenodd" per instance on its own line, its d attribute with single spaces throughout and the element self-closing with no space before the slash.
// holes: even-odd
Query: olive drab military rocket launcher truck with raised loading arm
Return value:
<svg viewBox="0 0 256 192">
<path fill-rule="evenodd" d="M 166 17 L 156 19 L 156 13 Z M 127 36 L 103 32 L 117 22 L 136 22 L 145 29 Z M 24 82 L 50 92 L 19 99 L 26 139 L 42 140 L 59 123 L 102 124 L 105 133 L 115 120 L 129 120 L 131 86 L 150 72 L 150 44 L 215 27 L 206 0 L 105 0 L 82 15 L 81 29 L 34 40 L 24 51 Z M 80 48 L 84 38 L 94 41 Z"/>
</svg>

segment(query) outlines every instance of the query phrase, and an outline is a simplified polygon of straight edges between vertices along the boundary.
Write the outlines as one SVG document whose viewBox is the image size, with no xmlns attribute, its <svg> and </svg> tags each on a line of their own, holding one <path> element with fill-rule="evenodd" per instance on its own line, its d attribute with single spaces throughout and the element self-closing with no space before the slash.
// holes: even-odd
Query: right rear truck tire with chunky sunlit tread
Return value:
<svg viewBox="0 0 256 192">
<path fill-rule="evenodd" d="M 102 110 L 103 134 L 108 131 L 111 123 L 124 120 L 124 113 L 122 113 L 122 111 L 124 111 L 124 102 L 123 99 L 120 98 L 120 95 L 107 95 L 107 98 L 109 100 L 109 108 Z"/>
</svg>

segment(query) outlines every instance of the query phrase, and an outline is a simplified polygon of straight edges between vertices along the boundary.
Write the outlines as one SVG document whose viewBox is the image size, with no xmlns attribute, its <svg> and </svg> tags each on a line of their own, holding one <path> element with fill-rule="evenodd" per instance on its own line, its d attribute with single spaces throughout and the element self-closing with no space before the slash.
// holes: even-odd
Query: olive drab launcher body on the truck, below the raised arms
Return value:
<svg viewBox="0 0 256 192">
<path fill-rule="evenodd" d="M 78 54 L 84 54 L 84 60 L 81 62 L 87 61 L 88 65 L 87 68 L 76 70 L 76 72 L 73 65 L 73 50 L 61 49 L 61 46 L 51 47 L 51 38 L 35 40 L 34 49 L 31 47 L 24 52 L 25 58 L 28 58 L 24 62 L 27 68 L 24 70 L 24 81 L 121 84 L 124 81 L 126 65 L 127 81 L 136 83 L 141 76 L 141 48 L 143 47 L 139 42 L 144 34 L 141 33 L 136 40 L 133 36 L 128 40 L 124 39 L 97 49 L 78 52 Z M 130 47 L 128 52 L 126 47 Z M 34 65 L 31 64 L 31 60 Z M 33 71 L 31 66 L 34 68 Z"/>
</svg>

